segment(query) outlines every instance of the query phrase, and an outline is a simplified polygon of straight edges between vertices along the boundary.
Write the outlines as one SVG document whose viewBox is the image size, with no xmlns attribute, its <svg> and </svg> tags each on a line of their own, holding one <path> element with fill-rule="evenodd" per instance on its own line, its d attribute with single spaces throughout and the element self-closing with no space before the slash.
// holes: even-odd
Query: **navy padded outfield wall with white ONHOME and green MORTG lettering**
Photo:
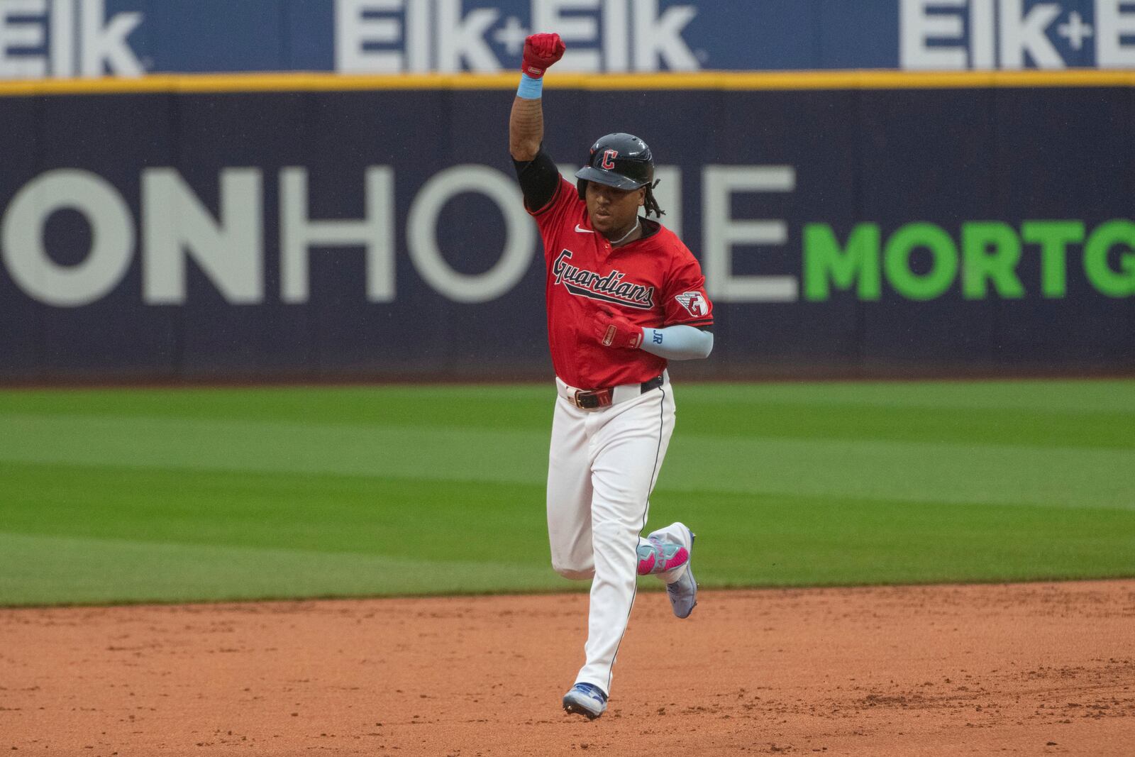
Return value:
<svg viewBox="0 0 1135 757">
<path fill-rule="evenodd" d="M 1129 371 L 1135 87 L 1087 74 L 564 79 L 546 146 L 654 149 L 716 303 L 683 376 Z M 546 377 L 512 93 L 398 82 L 5 92 L 0 377 Z"/>
</svg>

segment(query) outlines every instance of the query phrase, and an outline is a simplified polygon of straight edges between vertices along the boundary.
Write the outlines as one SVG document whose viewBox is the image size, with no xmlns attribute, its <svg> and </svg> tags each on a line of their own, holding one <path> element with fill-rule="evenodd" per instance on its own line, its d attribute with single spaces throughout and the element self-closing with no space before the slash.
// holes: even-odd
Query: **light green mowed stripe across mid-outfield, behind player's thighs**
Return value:
<svg viewBox="0 0 1135 757">
<path fill-rule="evenodd" d="M 703 430 L 705 424 L 699 424 Z M 547 431 L 7 415 L 0 460 L 540 483 Z M 675 436 L 661 490 L 1135 508 L 1135 451 Z"/>
</svg>

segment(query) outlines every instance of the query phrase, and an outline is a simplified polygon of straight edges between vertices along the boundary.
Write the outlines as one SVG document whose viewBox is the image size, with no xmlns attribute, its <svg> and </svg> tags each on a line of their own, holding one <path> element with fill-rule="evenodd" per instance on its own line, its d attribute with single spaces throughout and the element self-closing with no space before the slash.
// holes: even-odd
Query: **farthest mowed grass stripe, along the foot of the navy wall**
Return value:
<svg viewBox="0 0 1135 757">
<path fill-rule="evenodd" d="M 680 420 L 713 436 L 1135 448 L 1135 381 L 686 385 Z M 109 415 L 547 434 L 554 393 L 526 386 L 0 393 L 0 415 Z M 1127 418 L 1125 418 L 1127 417 Z"/>
</svg>

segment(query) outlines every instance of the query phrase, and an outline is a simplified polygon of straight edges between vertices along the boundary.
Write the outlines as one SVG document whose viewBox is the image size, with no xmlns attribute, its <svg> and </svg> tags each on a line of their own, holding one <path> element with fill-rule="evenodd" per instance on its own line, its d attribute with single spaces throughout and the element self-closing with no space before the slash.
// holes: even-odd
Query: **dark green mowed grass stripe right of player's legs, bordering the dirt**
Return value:
<svg viewBox="0 0 1135 757">
<path fill-rule="evenodd" d="M 653 498 L 698 533 L 708 586 L 848 586 L 1135 575 L 1135 512 L 846 497 Z"/>
</svg>

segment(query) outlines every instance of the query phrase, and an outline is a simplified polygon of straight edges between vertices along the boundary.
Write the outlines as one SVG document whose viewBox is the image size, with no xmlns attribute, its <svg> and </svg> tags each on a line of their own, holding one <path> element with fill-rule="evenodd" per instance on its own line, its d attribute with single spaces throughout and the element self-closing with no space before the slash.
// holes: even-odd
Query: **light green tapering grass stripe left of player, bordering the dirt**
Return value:
<svg viewBox="0 0 1135 757">
<path fill-rule="evenodd" d="M 550 567 L 0 532 L 0 605 L 563 589 Z"/>
</svg>

